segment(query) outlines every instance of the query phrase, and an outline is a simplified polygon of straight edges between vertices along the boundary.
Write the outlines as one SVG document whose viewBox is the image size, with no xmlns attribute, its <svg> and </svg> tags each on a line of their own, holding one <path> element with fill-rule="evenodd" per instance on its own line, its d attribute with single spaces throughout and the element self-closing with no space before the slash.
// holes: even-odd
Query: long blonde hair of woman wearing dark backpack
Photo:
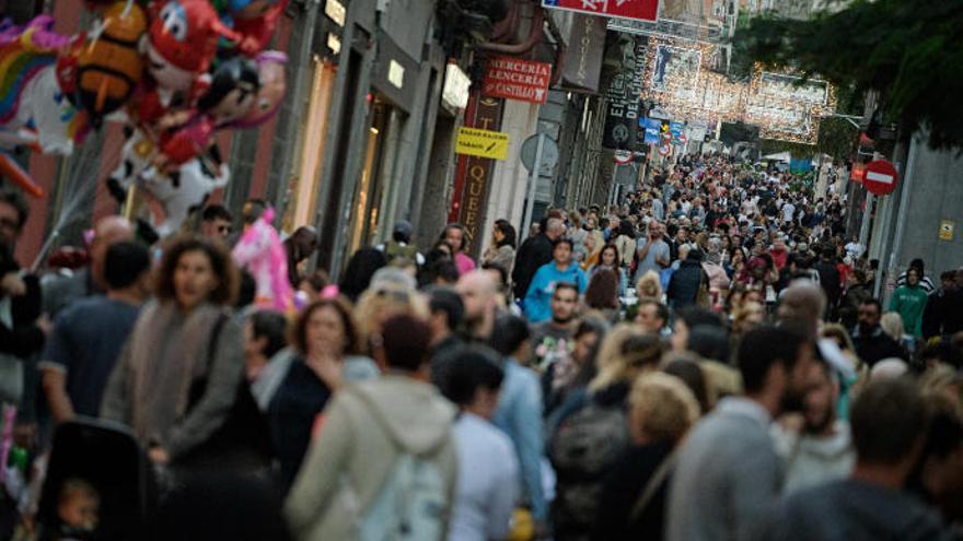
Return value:
<svg viewBox="0 0 963 541">
<path fill-rule="evenodd" d="M 631 380 L 639 372 L 658 368 L 662 352 L 662 340 L 655 334 L 629 324 L 616 326 L 602 340 L 595 361 L 599 374 L 589 383 L 589 391 Z"/>
</svg>

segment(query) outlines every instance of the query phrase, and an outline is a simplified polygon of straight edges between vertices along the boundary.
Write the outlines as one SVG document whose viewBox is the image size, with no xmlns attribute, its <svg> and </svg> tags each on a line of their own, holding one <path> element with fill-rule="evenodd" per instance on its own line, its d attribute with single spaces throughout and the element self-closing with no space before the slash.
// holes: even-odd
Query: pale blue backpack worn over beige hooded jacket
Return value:
<svg viewBox="0 0 963 541">
<path fill-rule="evenodd" d="M 359 513 L 360 541 L 430 541 L 444 533 L 448 491 L 439 467 L 402 454 L 368 509 Z"/>
</svg>

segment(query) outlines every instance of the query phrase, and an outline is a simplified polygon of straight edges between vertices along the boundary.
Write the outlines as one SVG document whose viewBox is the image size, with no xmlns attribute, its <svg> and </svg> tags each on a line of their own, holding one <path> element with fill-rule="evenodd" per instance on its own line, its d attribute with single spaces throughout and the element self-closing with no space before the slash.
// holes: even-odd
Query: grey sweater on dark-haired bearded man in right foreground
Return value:
<svg viewBox="0 0 963 541">
<path fill-rule="evenodd" d="M 769 414 L 730 397 L 693 430 L 669 491 L 669 541 L 759 539 L 779 490 Z"/>
</svg>

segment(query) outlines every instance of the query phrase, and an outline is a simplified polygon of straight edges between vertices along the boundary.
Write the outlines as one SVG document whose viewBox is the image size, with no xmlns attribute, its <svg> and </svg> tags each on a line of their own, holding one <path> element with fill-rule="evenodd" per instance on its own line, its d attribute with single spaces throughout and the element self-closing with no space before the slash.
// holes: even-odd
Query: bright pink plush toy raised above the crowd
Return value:
<svg viewBox="0 0 963 541">
<path fill-rule="evenodd" d="M 274 209 L 248 225 L 234 246 L 234 262 L 254 277 L 257 284 L 255 304 L 278 311 L 294 307 L 294 291 L 288 283 L 288 258 L 278 232 L 271 226 Z"/>
</svg>

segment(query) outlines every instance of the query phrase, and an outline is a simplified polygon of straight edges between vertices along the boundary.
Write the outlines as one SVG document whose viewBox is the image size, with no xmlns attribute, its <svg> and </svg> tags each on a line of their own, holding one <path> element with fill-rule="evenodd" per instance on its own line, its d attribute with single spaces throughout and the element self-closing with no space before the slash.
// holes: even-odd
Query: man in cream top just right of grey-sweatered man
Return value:
<svg viewBox="0 0 963 541">
<path fill-rule="evenodd" d="M 817 365 L 805 395 L 802 425 L 774 425 L 776 452 L 785 471 L 784 493 L 844 479 L 852 471 L 856 454 L 849 425 L 836 417 L 838 399 L 838 375 L 828 364 Z"/>
</svg>

